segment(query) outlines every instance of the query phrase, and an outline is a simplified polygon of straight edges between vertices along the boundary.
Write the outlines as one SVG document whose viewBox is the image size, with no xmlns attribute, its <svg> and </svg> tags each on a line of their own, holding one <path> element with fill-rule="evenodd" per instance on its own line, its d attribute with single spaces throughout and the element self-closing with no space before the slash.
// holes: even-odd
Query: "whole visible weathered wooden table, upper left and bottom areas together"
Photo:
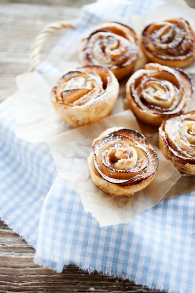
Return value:
<svg viewBox="0 0 195 293">
<path fill-rule="evenodd" d="M 78 9 L 30 4 L 0 5 L 0 99 L 16 91 L 15 76 L 28 70 L 29 48 L 47 23 L 76 18 Z M 62 32 L 45 43 L 44 58 Z M 103 274 L 88 274 L 76 266 L 62 273 L 33 263 L 35 251 L 0 222 L 0 292 L 158 292 Z"/>
</svg>

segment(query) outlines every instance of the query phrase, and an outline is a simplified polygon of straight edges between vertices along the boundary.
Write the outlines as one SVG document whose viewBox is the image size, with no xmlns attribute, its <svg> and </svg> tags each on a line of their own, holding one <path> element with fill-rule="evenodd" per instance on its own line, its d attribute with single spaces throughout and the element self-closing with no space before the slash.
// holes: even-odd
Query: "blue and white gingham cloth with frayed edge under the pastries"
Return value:
<svg viewBox="0 0 195 293">
<path fill-rule="evenodd" d="M 125 22 L 159 2 L 112 1 L 110 11 Z M 56 62 L 66 57 L 68 43 L 106 17 L 110 3 L 99 6 L 101 17 L 93 15 L 95 4 L 85 7 L 79 31 L 68 32 L 53 50 Z M 47 76 L 52 66 L 47 61 L 39 70 Z M 149 288 L 195 292 L 195 193 L 164 199 L 129 224 L 100 228 L 57 175 L 48 146 L 15 136 L 15 103 L 17 96 L 0 105 L 0 218 L 36 249 L 35 262 L 57 272 L 76 264 Z"/>
</svg>

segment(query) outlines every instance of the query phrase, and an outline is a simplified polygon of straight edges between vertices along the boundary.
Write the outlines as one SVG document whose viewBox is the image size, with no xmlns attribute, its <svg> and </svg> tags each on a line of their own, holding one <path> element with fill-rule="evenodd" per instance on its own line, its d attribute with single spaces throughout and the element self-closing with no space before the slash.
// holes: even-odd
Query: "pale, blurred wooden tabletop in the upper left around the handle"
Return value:
<svg viewBox="0 0 195 293">
<path fill-rule="evenodd" d="M 30 46 L 46 24 L 76 19 L 79 10 L 71 7 L 1 4 L 0 5 L 0 101 L 16 90 L 15 78 L 28 70 Z M 64 31 L 51 34 L 46 40 L 41 59 L 57 44 Z"/>
</svg>

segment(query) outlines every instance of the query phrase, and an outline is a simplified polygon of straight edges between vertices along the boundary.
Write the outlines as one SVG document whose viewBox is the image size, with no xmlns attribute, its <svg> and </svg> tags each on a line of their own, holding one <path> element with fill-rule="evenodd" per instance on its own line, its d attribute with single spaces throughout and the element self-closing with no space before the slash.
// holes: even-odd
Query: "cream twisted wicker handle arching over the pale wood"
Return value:
<svg viewBox="0 0 195 293">
<path fill-rule="evenodd" d="M 59 21 L 45 25 L 38 33 L 30 49 L 30 66 L 29 71 L 33 71 L 40 63 L 40 50 L 47 36 L 64 28 L 75 28 L 75 21 Z"/>
</svg>

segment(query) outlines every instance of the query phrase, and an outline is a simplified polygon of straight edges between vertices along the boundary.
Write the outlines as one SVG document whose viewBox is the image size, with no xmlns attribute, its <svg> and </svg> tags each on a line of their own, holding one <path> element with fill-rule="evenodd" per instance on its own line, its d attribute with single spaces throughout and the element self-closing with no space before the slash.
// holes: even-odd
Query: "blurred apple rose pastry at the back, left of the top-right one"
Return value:
<svg viewBox="0 0 195 293">
<path fill-rule="evenodd" d="M 102 65 L 112 70 L 117 79 L 132 72 L 138 58 L 135 31 L 118 22 L 97 26 L 81 41 L 81 63 Z"/>
</svg>

